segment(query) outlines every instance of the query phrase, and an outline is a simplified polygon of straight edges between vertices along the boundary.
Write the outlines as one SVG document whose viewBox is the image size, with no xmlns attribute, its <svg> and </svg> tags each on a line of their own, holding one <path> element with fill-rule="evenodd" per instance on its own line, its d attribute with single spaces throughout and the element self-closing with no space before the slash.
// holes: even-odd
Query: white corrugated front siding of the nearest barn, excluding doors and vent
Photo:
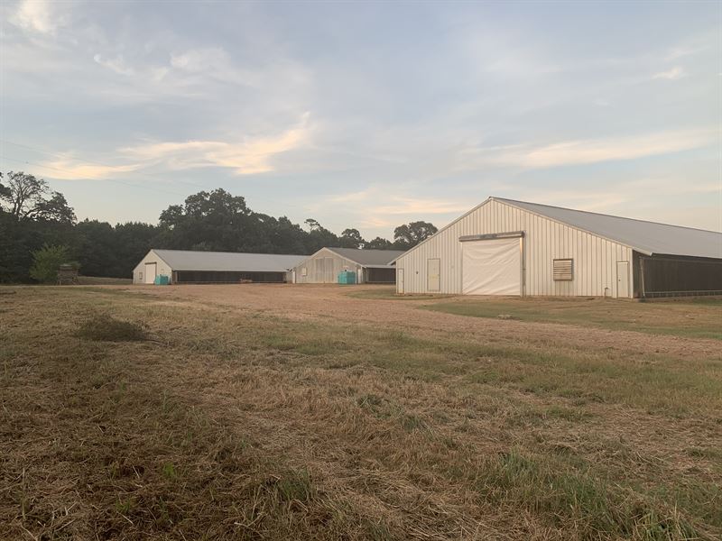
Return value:
<svg viewBox="0 0 722 541">
<path fill-rule="evenodd" d="M 632 249 L 549 218 L 494 199 L 449 225 L 430 240 L 396 260 L 403 269 L 406 293 L 427 293 L 427 260 L 441 260 L 441 293 L 461 293 L 459 236 L 523 231 L 525 295 L 616 297 L 616 261 L 629 261 L 630 297 Z M 574 280 L 554 281 L 553 260 L 574 260 Z"/>
</svg>

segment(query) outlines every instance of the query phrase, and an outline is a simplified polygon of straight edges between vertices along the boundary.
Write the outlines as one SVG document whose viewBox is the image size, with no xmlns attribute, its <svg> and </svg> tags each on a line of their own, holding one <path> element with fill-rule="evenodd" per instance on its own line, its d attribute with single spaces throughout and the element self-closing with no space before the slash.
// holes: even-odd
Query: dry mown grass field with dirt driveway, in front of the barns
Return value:
<svg viewBox="0 0 722 541">
<path fill-rule="evenodd" d="M 722 536 L 718 305 L 369 290 L 0 289 L 0 538 Z"/>
</svg>

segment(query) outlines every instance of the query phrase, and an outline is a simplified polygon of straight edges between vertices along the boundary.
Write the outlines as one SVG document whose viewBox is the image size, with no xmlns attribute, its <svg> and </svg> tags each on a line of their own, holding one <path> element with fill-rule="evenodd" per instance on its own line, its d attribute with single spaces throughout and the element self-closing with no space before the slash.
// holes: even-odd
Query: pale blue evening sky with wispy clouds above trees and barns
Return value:
<svg viewBox="0 0 722 541">
<path fill-rule="evenodd" d="M 722 3 L 0 3 L 0 170 L 393 238 L 508 197 L 722 230 Z"/>
</svg>

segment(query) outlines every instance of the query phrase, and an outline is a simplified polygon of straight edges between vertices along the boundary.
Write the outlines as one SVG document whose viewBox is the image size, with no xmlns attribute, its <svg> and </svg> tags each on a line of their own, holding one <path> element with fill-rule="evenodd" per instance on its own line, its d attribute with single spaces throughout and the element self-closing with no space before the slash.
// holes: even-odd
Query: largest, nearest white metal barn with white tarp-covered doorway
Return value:
<svg viewBox="0 0 722 541">
<path fill-rule="evenodd" d="M 722 294 L 722 233 L 501 197 L 394 263 L 399 293 Z"/>
</svg>

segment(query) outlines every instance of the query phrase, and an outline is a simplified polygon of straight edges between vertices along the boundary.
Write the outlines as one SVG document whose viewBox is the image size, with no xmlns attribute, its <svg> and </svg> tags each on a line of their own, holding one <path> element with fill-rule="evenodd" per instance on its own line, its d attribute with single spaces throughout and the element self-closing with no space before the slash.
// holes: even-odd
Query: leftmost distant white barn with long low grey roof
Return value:
<svg viewBox="0 0 722 541">
<path fill-rule="evenodd" d="M 167 276 L 174 284 L 291 282 L 292 268 L 306 257 L 153 249 L 135 266 L 133 283 L 153 284 L 160 276 Z"/>
</svg>

